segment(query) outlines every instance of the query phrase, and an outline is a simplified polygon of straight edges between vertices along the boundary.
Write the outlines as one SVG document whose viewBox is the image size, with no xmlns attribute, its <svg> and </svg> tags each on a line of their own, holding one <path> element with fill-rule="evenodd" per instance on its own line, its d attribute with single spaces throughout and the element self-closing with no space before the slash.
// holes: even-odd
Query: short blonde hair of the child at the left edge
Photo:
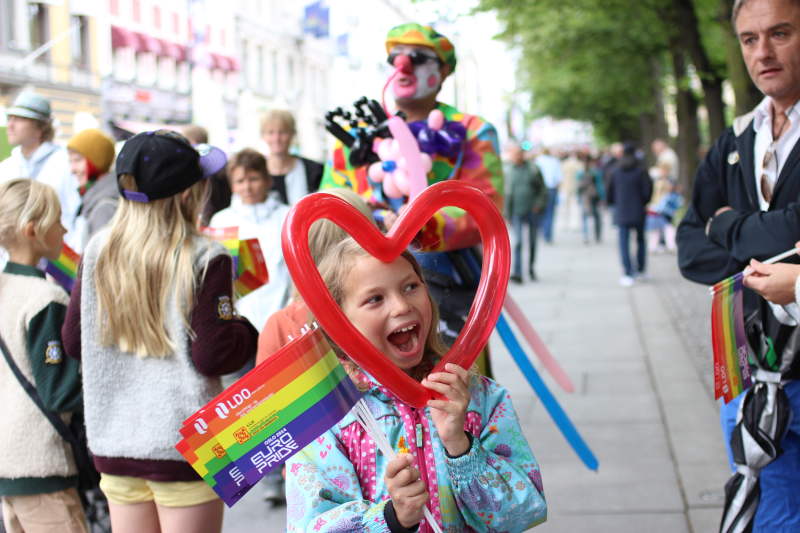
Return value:
<svg viewBox="0 0 800 533">
<path fill-rule="evenodd" d="M 29 179 L 14 179 L 0 184 L 0 245 L 12 246 L 29 223 L 36 238 L 61 218 L 61 204 L 49 185 Z"/>
</svg>

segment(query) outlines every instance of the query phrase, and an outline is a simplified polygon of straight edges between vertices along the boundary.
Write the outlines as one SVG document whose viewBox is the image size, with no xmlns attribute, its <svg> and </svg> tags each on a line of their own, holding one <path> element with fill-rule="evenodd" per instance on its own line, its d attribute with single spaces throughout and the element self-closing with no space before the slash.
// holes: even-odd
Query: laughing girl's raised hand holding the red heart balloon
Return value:
<svg viewBox="0 0 800 533">
<path fill-rule="evenodd" d="M 431 418 L 447 453 L 456 457 L 469 449 L 464 421 L 469 405 L 469 374 L 460 366 L 447 363 L 445 372 L 429 374 L 422 386 L 438 392 L 446 400 L 428 400 Z"/>
</svg>

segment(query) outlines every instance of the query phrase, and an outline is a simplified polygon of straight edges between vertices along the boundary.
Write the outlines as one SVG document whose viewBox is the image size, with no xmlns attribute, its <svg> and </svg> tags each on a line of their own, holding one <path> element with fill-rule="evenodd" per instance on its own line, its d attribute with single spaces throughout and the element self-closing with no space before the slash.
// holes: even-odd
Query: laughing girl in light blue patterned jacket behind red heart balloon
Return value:
<svg viewBox="0 0 800 533">
<path fill-rule="evenodd" d="M 524 531 L 546 517 L 539 467 L 508 392 L 448 364 L 436 308 L 409 253 L 391 263 L 352 239 L 320 263 L 331 295 L 393 364 L 444 399 L 415 409 L 344 358 L 394 449 L 389 461 L 352 415 L 286 465 L 288 531 L 414 530 L 427 506 L 444 531 Z M 431 531 L 423 522 L 421 531 Z"/>
</svg>

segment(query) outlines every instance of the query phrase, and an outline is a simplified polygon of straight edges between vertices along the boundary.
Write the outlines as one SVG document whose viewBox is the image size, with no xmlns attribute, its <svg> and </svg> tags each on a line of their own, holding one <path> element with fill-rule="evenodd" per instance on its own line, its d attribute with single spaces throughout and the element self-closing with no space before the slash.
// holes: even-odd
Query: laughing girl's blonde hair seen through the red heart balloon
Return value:
<svg viewBox="0 0 800 533">
<path fill-rule="evenodd" d="M 352 237 L 346 237 L 335 245 L 329 247 L 327 253 L 319 262 L 319 273 L 322 276 L 322 280 L 325 282 L 325 285 L 327 285 L 328 290 L 331 292 L 331 296 L 339 306 L 342 305 L 342 302 L 345 298 L 344 284 L 347 279 L 347 274 L 352 270 L 353 263 L 355 263 L 355 261 L 360 257 L 370 257 L 370 254 L 364 250 L 355 239 Z M 423 377 L 428 375 L 433 366 L 436 364 L 436 361 L 438 361 L 447 352 L 447 347 L 444 345 L 444 342 L 439 335 L 439 309 L 436 306 L 436 302 L 434 302 L 433 298 L 431 298 L 430 292 L 428 292 L 427 285 L 425 284 L 425 278 L 422 276 L 422 268 L 408 250 L 400 254 L 400 257 L 408 261 L 411 265 L 411 268 L 414 269 L 414 272 L 425 286 L 425 291 L 428 295 L 428 301 L 431 304 L 431 328 L 428 331 L 427 337 L 425 338 L 424 355 L 422 361 L 411 371 L 411 377 L 416 380 L 421 380 Z M 352 362 L 341 350 L 341 348 L 336 346 L 332 340 L 331 346 L 333 346 L 334 350 L 339 355 L 339 358 L 342 359 L 342 364 L 347 373 L 351 377 L 355 376 L 359 371 L 356 364 Z M 358 383 L 357 380 L 356 383 Z"/>
</svg>

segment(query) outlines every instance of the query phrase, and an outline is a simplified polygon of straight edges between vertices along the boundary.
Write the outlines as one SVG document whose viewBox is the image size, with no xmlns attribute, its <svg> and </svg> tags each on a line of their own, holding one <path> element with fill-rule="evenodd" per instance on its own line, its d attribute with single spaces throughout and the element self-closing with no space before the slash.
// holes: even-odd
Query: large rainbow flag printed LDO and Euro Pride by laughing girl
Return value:
<svg viewBox="0 0 800 533">
<path fill-rule="evenodd" d="M 232 506 L 360 398 L 322 331 L 309 329 L 187 418 L 175 447 Z"/>
</svg>

